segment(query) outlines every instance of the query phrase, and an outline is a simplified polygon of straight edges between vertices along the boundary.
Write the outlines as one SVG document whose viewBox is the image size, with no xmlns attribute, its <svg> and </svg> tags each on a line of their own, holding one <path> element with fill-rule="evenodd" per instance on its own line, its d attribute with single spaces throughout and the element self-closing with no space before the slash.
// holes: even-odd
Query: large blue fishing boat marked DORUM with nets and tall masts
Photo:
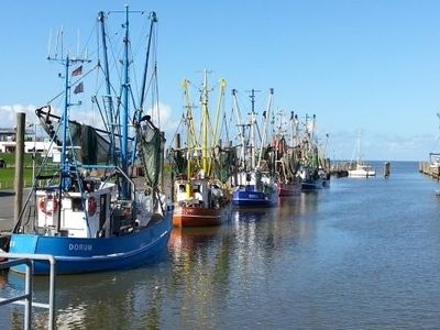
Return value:
<svg viewBox="0 0 440 330">
<path fill-rule="evenodd" d="M 74 106 L 70 88 L 74 84 L 82 86 L 80 70 L 87 64 L 86 59 L 68 55 L 55 58 L 65 69 L 65 107 L 62 116 L 54 116 L 50 106 L 36 110 L 42 127 L 52 138 L 53 148 L 58 152 L 52 161 L 47 156 L 36 173 L 35 184 L 11 235 L 9 252 L 54 255 L 58 274 L 123 270 L 145 264 L 166 251 L 170 234 L 172 209 L 160 186 L 165 141 L 154 119 L 143 113 L 144 95 L 136 105 L 140 110 L 133 112 L 133 117 L 130 112 L 129 95 L 133 90 L 129 65 L 133 61 L 128 57 L 128 7 L 124 13 L 124 75 L 120 81 L 122 98 L 114 97 L 111 94 L 113 87 L 106 48 L 101 53 L 105 56 L 100 63 L 105 69 L 106 95 L 100 114 L 107 119 L 105 130 L 69 119 Z M 98 24 L 103 45 L 106 19 L 100 12 Z M 150 36 L 154 36 L 155 13 L 151 13 L 150 19 Z M 145 80 L 148 67 L 146 56 Z M 152 73 L 152 77 L 155 75 Z M 73 77 L 80 77 L 79 82 L 73 82 Z M 129 122 L 135 128 L 131 136 Z M 142 164 L 144 173 L 138 178 L 132 176 L 134 160 Z M 35 274 L 48 273 L 44 262 L 35 261 L 33 267 Z M 21 266 L 12 270 L 24 272 Z"/>
</svg>

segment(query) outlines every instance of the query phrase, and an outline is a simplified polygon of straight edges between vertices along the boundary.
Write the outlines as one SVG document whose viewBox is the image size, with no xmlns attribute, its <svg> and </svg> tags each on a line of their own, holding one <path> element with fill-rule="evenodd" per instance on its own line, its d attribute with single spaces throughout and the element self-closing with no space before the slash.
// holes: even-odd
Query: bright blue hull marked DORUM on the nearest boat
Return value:
<svg viewBox="0 0 440 330">
<path fill-rule="evenodd" d="M 154 220 L 153 220 L 154 221 Z M 11 253 L 52 254 L 57 274 L 124 270 L 148 263 L 165 251 L 172 230 L 172 215 L 141 230 L 113 238 L 67 238 L 14 233 Z M 24 266 L 12 267 L 24 273 Z M 47 262 L 35 261 L 34 274 L 48 274 Z"/>
</svg>

